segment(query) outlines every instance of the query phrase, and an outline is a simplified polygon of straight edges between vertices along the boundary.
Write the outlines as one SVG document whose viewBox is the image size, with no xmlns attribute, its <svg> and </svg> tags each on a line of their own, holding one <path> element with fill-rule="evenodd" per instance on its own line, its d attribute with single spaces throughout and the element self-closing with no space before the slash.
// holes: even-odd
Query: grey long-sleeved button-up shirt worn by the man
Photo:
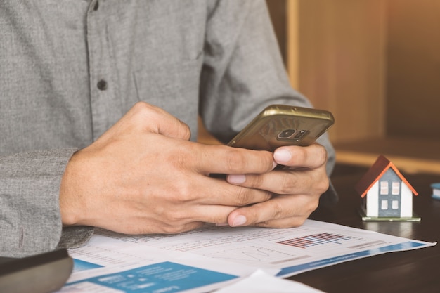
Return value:
<svg viewBox="0 0 440 293">
<path fill-rule="evenodd" d="M 291 89 L 263 0 L 0 1 L 0 255 L 74 247 L 65 164 L 138 100 L 228 141 Z M 334 152 L 324 136 L 320 140 Z"/>
</svg>

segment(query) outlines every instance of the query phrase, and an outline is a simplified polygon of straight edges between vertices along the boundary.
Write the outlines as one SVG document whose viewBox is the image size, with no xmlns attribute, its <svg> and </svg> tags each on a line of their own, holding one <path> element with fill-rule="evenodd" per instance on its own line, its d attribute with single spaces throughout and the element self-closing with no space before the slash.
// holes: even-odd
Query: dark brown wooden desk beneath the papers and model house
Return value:
<svg viewBox="0 0 440 293">
<path fill-rule="evenodd" d="M 364 222 L 356 211 L 359 198 L 354 191 L 363 171 L 366 169 L 337 172 L 332 182 L 339 193 L 339 203 L 335 207 L 318 208 L 311 219 L 428 242 L 440 240 L 440 201 L 431 198 L 430 188 L 431 183 L 440 182 L 439 175 L 404 174 L 419 193 L 414 198 L 414 210 L 422 221 Z M 440 244 L 340 263 L 294 275 L 290 280 L 327 293 L 440 292 Z"/>
</svg>

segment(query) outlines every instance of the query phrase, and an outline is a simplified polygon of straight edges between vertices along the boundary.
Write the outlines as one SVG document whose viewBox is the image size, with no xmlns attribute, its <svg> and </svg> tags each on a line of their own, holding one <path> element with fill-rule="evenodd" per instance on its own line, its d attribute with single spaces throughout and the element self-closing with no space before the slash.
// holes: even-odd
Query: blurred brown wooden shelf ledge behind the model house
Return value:
<svg viewBox="0 0 440 293">
<path fill-rule="evenodd" d="M 440 175 L 440 140 L 421 138 L 373 138 L 335 144 L 336 162 L 371 166 L 384 155 L 407 173 Z"/>
</svg>

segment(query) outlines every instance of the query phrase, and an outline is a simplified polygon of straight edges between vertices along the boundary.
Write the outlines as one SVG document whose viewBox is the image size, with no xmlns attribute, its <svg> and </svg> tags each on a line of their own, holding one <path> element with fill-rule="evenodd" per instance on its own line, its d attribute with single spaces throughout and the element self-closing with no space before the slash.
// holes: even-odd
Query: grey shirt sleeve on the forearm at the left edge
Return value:
<svg viewBox="0 0 440 293">
<path fill-rule="evenodd" d="M 63 229 L 60 217 L 60 181 L 76 150 L 32 151 L 0 157 L 1 256 L 39 254 L 89 240 L 93 228 Z"/>
</svg>

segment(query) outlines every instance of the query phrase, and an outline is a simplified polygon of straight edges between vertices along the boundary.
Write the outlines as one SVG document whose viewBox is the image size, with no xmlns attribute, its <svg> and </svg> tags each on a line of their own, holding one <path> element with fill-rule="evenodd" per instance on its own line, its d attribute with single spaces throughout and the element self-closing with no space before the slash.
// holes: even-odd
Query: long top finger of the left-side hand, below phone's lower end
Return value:
<svg viewBox="0 0 440 293">
<path fill-rule="evenodd" d="M 272 152 L 198 144 L 197 171 L 203 174 L 263 174 L 275 167 Z"/>
</svg>

